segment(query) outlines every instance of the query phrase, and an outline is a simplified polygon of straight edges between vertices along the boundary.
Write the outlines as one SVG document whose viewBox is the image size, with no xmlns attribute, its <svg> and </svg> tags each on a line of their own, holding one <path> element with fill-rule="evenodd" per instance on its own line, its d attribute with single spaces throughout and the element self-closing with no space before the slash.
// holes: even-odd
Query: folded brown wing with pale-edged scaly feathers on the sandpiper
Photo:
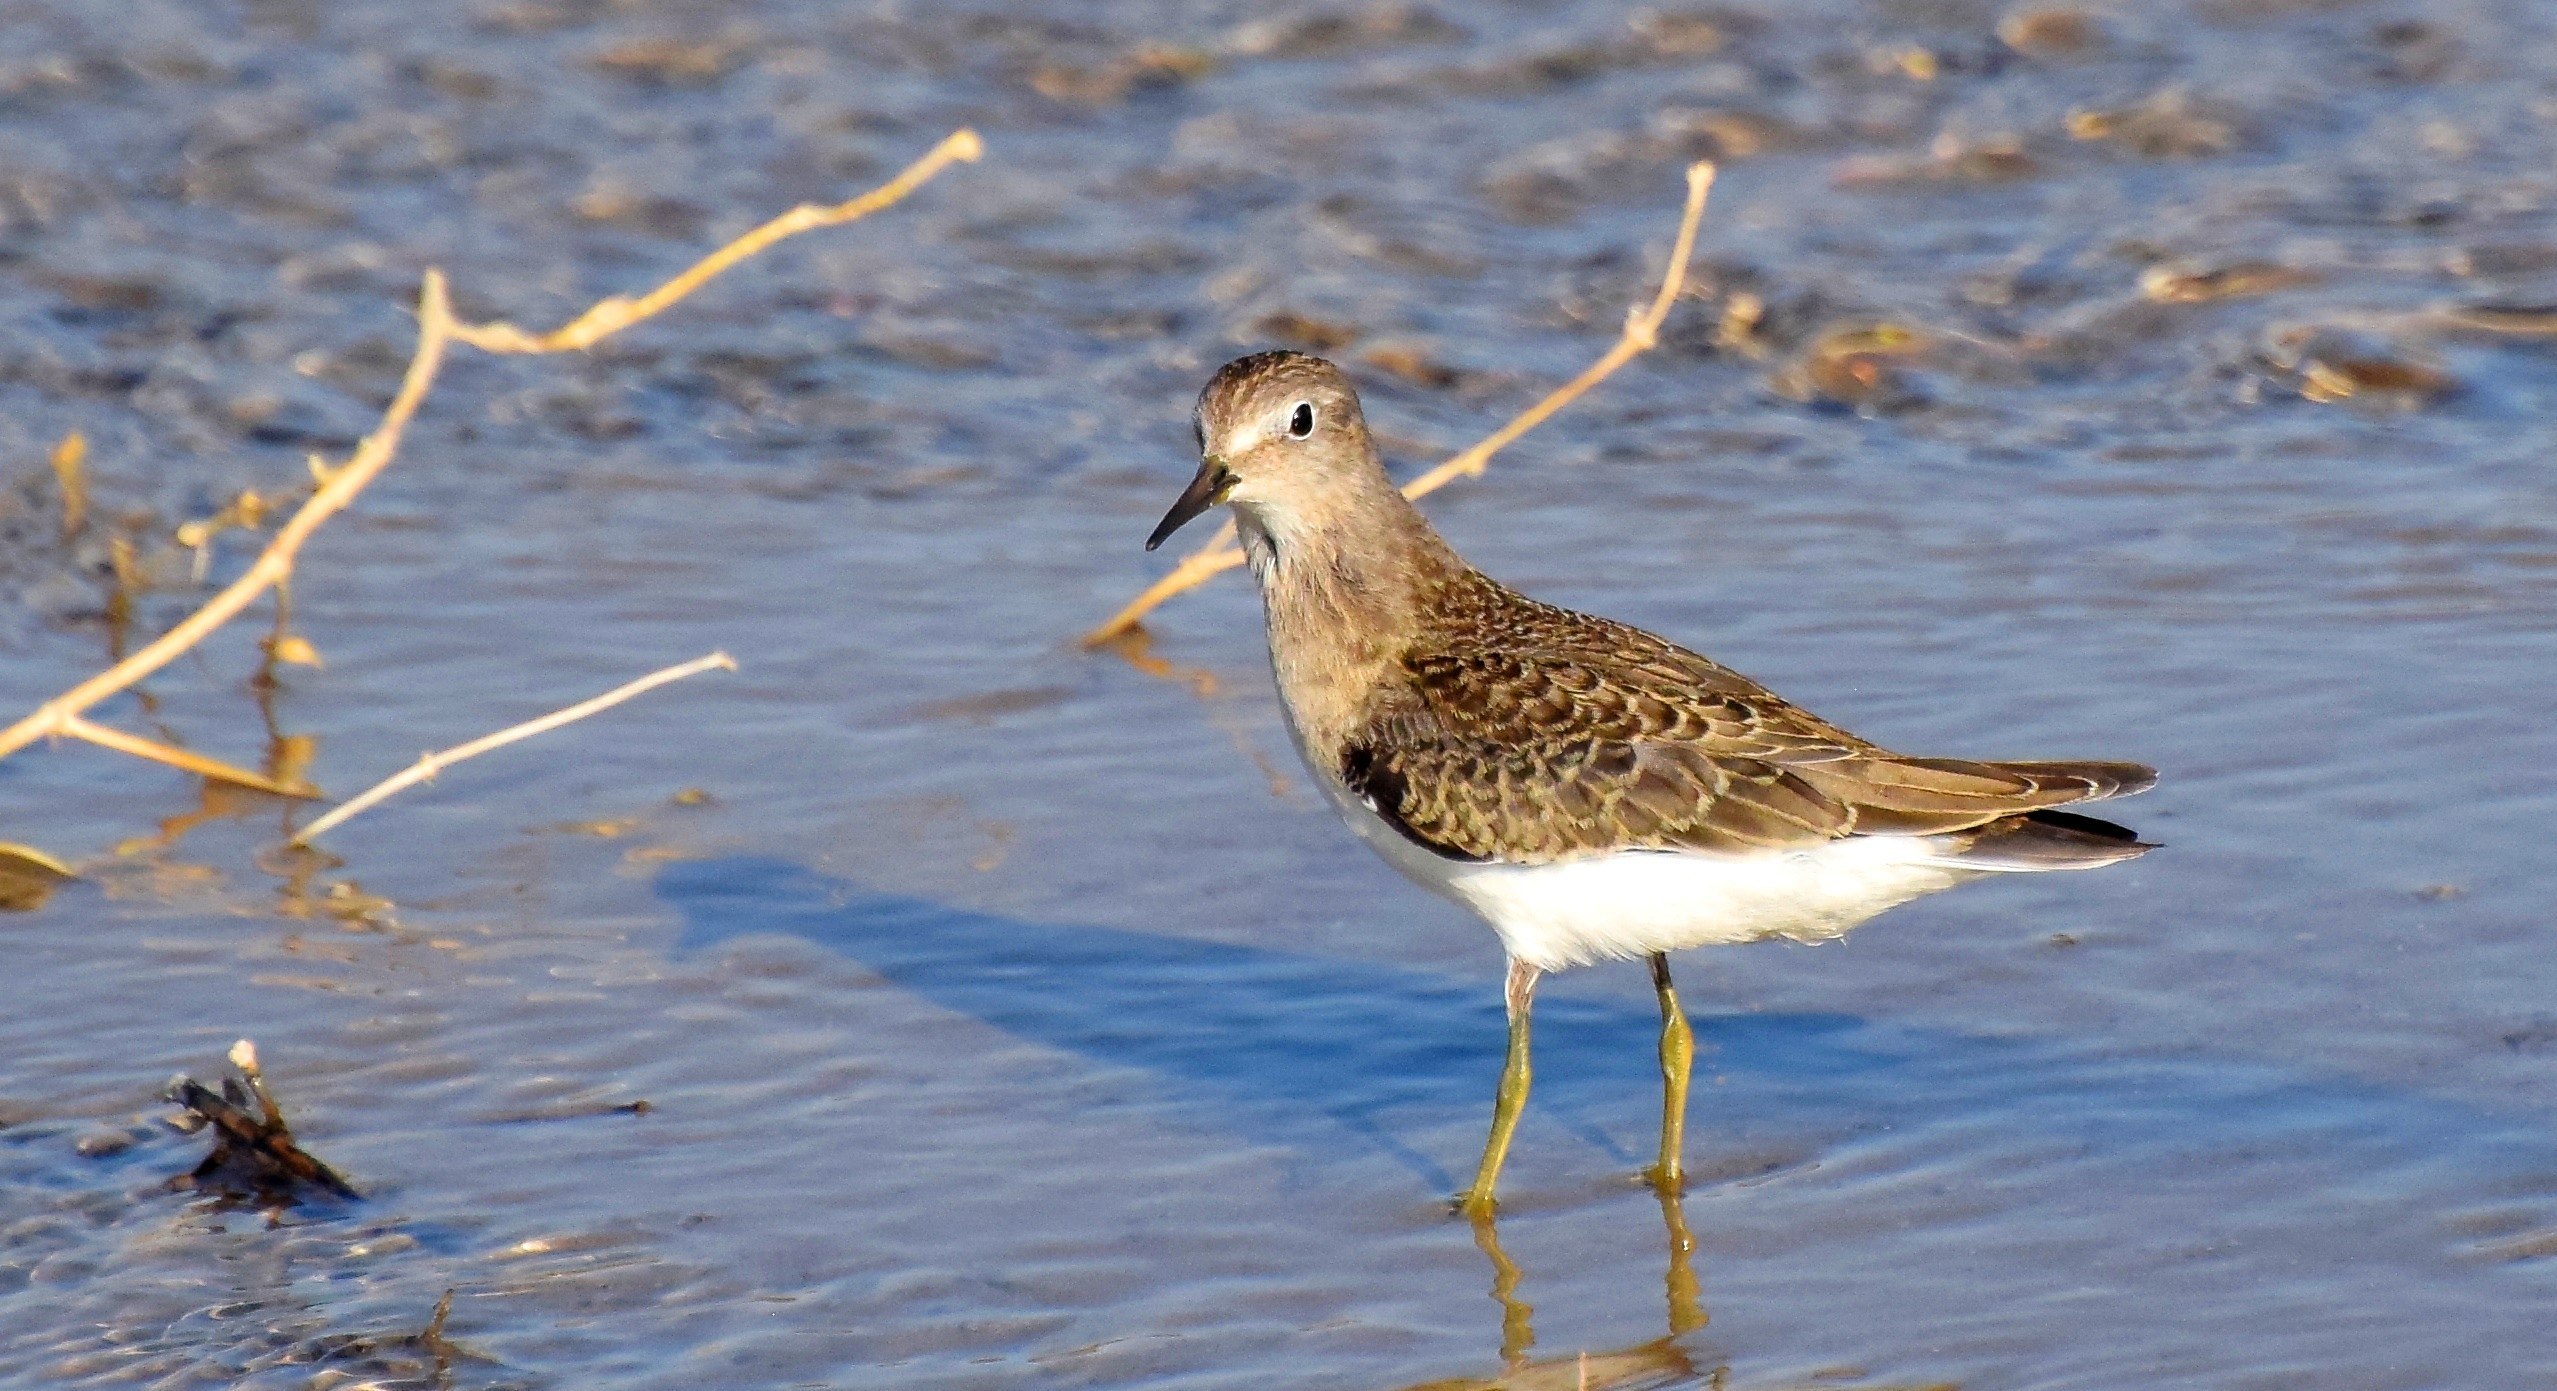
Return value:
<svg viewBox="0 0 2557 1391">
<path fill-rule="evenodd" d="M 1406 657 L 1406 685 L 1345 747 L 1350 788 L 1437 854 L 1539 864 L 1964 831 L 2153 780 L 2122 762 L 1900 757 L 1636 629 L 1606 649 L 1539 637 Z"/>
</svg>

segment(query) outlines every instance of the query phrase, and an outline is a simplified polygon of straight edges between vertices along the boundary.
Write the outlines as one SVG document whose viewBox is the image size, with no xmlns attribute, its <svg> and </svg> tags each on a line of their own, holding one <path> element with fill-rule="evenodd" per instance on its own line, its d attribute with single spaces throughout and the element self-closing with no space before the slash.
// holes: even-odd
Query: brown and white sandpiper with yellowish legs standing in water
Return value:
<svg viewBox="0 0 2557 1391">
<path fill-rule="evenodd" d="M 1527 1102 L 1544 972 L 1649 959 L 1662 1133 L 1647 1179 L 1675 1192 L 1695 1043 L 1670 951 L 1826 941 L 1979 874 L 2150 849 L 2053 811 L 2140 793 L 2148 767 L 1895 754 L 1642 629 L 1501 588 L 1394 488 L 1358 391 L 1322 358 L 1225 363 L 1194 427 L 1199 476 L 1146 550 L 1235 509 L 1296 752 L 1368 846 L 1509 951 L 1509 1059 L 1457 1199 L 1475 1217 Z"/>
</svg>

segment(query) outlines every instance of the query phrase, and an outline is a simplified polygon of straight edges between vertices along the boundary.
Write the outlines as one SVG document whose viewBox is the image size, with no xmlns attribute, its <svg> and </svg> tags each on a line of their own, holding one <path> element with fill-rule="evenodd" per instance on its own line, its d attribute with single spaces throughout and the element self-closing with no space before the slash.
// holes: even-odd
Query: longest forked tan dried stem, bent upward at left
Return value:
<svg viewBox="0 0 2557 1391">
<path fill-rule="evenodd" d="M 813 228 L 834 228 L 841 222 L 851 222 L 857 217 L 867 217 L 903 199 L 905 194 L 915 192 L 918 187 L 923 187 L 926 179 L 931 179 L 941 169 L 961 161 L 974 161 L 979 153 L 984 153 L 984 143 L 977 138 L 977 133 L 956 130 L 946 141 L 933 146 L 931 153 L 905 166 L 905 171 L 900 171 L 887 184 L 880 184 L 877 189 L 834 207 L 805 205 L 790 210 L 765 222 L 762 228 L 754 228 L 752 233 L 731 240 L 729 245 L 713 251 L 711 256 L 706 256 L 680 276 L 665 281 L 662 286 L 652 289 L 649 294 L 639 299 L 621 299 L 621 297 L 606 299 L 593 309 L 570 320 L 565 327 L 547 335 L 529 335 L 506 322 L 465 325 L 455 320 L 453 299 L 445 289 L 442 271 L 427 271 L 424 284 L 419 286 L 417 294 L 417 350 L 409 355 L 409 371 L 399 378 L 399 391 L 391 396 L 389 409 L 384 409 L 381 422 L 373 427 L 371 435 L 363 437 L 361 445 L 355 445 L 355 455 L 348 458 L 345 465 L 340 468 L 327 468 L 315 455 L 312 476 L 320 481 L 317 491 L 291 514 L 291 519 L 276 532 L 276 537 L 266 542 L 266 550 L 258 552 L 256 563 L 248 565 L 248 573 L 222 586 L 222 591 L 215 593 L 202 609 L 189 614 L 184 621 L 164 632 L 151 644 L 123 657 L 120 662 L 92 675 L 89 680 L 82 680 L 79 685 L 64 690 L 61 696 L 54 696 L 43 706 L 36 706 L 36 711 L 20 719 L 18 724 L 0 729 L 0 759 L 15 754 L 18 749 L 26 749 L 36 739 L 69 736 L 69 739 L 87 739 L 89 744 L 97 744 L 102 749 L 115 749 L 123 754 L 166 762 L 171 767 L 184 767 L 205 777 L 238 782 L 243 788 L 258 788 L 266 793 L 286 793 L 286 795 L 317 795 L 309 785 L 302 782 L 284 785 L 271 777 L 261 777 L 256 772 L 217 759 L 189 754 L 187 749 L 153 744 L 151 739 L 141 739 L 133 734 L 92 724 L 82 716 L 107 696 L 128 690 L 130 685 L 146 680 L 151 672 L 174 662 L 182 652 L 210 637 L 230 619 L 240 616 L 240 611 L 256 603 L 266 591 L 276 591 L 281 603 L 284 586 L 291 580 L 294 557 L 302 552 L 302 545 L 312 537 L 312 532 L 320 529 L 322 522 L 343 511 L 350 501 L 355 501 L 355 493 L 361 493 L 373 481 L 373 476 L 378 476 L 384 465 L 391 463 L 391 455 L 399 453 L 399 437 L 409 427 L 409 419 L 417 414 L 417 407 L 427 399 L 427 389 L 435 386 L 435 373 L 442 368 L 445 348 L 450 343 L 455 340 L 470 343 L 488 353 L 563 353 L 573 348 L 588 348 L 601 338 L 609 338 L 639 320 L 657 315 L 660 309 L 675 304 L 685 294 L 693 294 L 696 289 L 708 284 L 729 266 L 762 253 L 765 248 L 770 248 L 782 238 Z M 74 447 L 72 440 L 64 440 L 64 447 L 66 450 Z M 64 465 L 59 460 L 61 455 L 56 455 L 56 470 L 61 473 Z M 72 458 L 66 473 L 77 476 L 77 455 Z M 66 527 L 69 524 L 72 517 L 66 514 Z M 284 632 L 281 614 L 276 632 L 279 634 Z M 268 644 L 268 657 L 271 655 L 274 644 Z"/>
</svg>

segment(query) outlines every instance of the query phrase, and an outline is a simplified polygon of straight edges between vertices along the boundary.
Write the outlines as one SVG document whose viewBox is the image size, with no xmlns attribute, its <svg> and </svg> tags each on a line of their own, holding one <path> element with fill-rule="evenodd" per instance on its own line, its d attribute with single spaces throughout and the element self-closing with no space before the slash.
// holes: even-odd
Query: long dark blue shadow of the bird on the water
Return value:
<svg viewBox="0 0 2557 1391">
<path fill-rule="evenodd" d="M 798 936 L 1020 1038 L 1143 1069 L 1220 1128 L 1317 1153 L 1355 1135 L 1437 1192 L 1450 1186 L 1442 1158 L 1406 1135 L 1478 1120 L 1498 1069 L 1491 979 L 997 918 L 759 857 L 670 864 L 657 892 L 683 913 L 678 951 Z M 1657 1120 L 1657 1028 L 1647 1002 L 1539 1000 L 1532 1107 L 1631 1163 L 1608 1128 Z M 2488 1156 L 2529 1163 L 2544 1148 L 2521 1123 L 2455 1102 L 2276 1064 L 2125 1056 L 2104 1041 L 1826 1013 L 1698 1015 L 1695 1038 L 1716 1082 L 1698 1115 L 1726 1133 L 1994 1125 L 2115 1158 L 2281 1138 L 2470 1176 Z"/>
</svg>

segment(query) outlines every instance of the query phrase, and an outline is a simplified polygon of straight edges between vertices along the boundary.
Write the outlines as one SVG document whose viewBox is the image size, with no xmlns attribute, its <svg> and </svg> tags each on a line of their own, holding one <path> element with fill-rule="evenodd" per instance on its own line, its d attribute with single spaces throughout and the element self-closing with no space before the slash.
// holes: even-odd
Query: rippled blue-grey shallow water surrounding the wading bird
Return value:
<svg viewBox="0 0 2557 1391">
<path fill-rule="evenodd" d="M 174 522 L 371 427 L 424 266 L 547 325 L 990 143 L 588 355 L 458 355 L 307 552 L 327 665 L 268 706 L 345 795 L 742 672 L 330 864 L 261 798 L 0 765 L 0 839 L 87 872 L 0 918 L 0 1381 L 2547 1381 L 2549 350 L 2455 309 L 2557 302 L 2557 23 L 1997 20 L 0 8 L 8 711 L 110 642 L 66 430 L 146 632 L 197 596 Z M 1424 465 L 1603 350 L 1695 156 L 1667 343 L 1432 517 L 1890 744 L 2153 762 L 2166 849 L 1685 961 L 1683 1263 L 1629 1179 L 1644 979 L 1552 982 L 1483 1250 L 1440 1199 L 1488 933 L 1319 805 L 1245 586 L 1156 619 L 1174 680 L 1071 639 L 1161 573 L 1222 358 L 1327 345 Z M 102 716 L 256 762 L 253 670 L 225 634 Z M 361 1202 L 166 1186 L 205 1140 L 156 1087 L 238 1036 Z"/>
</svg>

